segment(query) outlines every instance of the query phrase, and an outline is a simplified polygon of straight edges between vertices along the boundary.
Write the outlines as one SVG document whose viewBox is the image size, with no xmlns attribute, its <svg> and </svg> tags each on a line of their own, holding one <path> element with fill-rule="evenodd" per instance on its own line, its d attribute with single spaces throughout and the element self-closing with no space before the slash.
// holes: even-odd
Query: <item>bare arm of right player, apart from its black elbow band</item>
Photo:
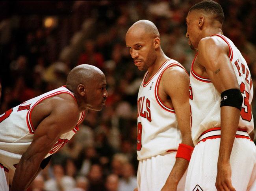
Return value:
<svg viewBox="0 0 256 191">
<path fill-rule="evenodd" d="M 217 37 L 203 38 L 198 44 L 197 62 L 206 69 L 208 77 L 219 91 L 238 89 L 238 82 L 228 58 L 228 45 Z M 230 154 L 239 123 L 240 110 L 236 107 L 221 107 L 221 143 L 217 164 L 217 190 L 235 190 L 231 183 Z"/>
</svg>

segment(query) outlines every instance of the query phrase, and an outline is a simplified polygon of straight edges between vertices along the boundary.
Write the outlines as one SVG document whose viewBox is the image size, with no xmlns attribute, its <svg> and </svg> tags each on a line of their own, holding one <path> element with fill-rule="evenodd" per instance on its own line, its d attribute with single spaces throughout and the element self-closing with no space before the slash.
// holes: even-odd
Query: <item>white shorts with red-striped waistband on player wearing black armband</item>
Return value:
<svg viewBox="0 0 256 191">
<path fill-rule="evenodd" d="M 186 191 L 217 191 L 217 161 L 220 128 L 202 133 L 192 153 L 186 177 Z M 256 146 L 244 130 L 237 130 L 230 156 L 232 186 L 237 191 L 256 191 Z"/>
</svg>

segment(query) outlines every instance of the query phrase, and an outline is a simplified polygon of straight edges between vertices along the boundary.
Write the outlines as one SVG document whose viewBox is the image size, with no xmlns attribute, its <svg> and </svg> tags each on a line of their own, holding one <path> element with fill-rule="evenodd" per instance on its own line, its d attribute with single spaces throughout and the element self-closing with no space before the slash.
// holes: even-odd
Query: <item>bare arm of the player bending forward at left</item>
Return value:
<svg viewBox="0 0 256 191">
<path fill-rule="evenodd" d="M 12 191 L 26 190 L 39 171 L 39 166 L 58 138 L 76 126 L 79 111 L 74 98 L 59 95 L 44 100 L 32 112 L 36 128 L 31 145 L 22 155 L 15 171 Z M 26 172 L 26 173 L 24 173 Z"/>
</svg>

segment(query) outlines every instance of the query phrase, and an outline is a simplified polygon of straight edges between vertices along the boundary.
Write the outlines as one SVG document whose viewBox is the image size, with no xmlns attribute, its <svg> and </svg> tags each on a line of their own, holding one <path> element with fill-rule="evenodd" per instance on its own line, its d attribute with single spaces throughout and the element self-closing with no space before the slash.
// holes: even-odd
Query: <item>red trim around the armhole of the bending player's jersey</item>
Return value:
<svg viewBox="0 0 256 191">
<path fill-rule="evenodd" d="M 50 98 L 52 96 L 56 96 L 56 95 L 59 95 L 59 94 L 62 94 L 62 93 L 67 93 L 69 95 L 71 95 L 74 100 L 76 101 L 76 98 L 74 97 L 74 95 L 69 92 L 69 91 L 65 91 L 65 90 L 61 90 L 61 91 L 57 91 L 57 92 L 54 92 L 54 93 L 51 93 L 49 95 L 46 95 L 45 97 L 41 98 L 40 100 L 38 100 L 31 108 L 30 110 L 28 111 L 27 113 L 27 117 L 26 117 L 26 121 L 27 121 L 27 126 L 28 126 L 28 130 L 30 131 L 31 134 L 35 134 L 35 128 L 33 127 L 33 124 L 32 124 L 32 121 L 31 121 L 31 113 L 34 109 L 35 106 L 37 106 L 37 104 L 39 104 L 40 102 L 42 102 L 43 100 L 45 100 L 46 98 Z"/>
</svg>

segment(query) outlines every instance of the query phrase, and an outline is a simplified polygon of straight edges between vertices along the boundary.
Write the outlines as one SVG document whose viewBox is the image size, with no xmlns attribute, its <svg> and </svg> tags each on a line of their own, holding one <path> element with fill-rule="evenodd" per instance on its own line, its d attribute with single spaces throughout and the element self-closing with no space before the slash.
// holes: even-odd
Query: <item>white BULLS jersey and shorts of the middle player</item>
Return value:
<svg viewBox="0 0 256 191">
<path fill-rule="evenodd" d="M 148 72 L 145 73 L 139 88 L 137 100 L 139 191 L 161 190 L 173 168 L 176 150 L 181 143 L 181 133 L 178 129 L 175 111 L 165 106 L 158 95 L 163 72 L 174 65 L 182 67 L 177 61 L 169 59 L 147 82 L 145 78 Z"/>
</svg>

